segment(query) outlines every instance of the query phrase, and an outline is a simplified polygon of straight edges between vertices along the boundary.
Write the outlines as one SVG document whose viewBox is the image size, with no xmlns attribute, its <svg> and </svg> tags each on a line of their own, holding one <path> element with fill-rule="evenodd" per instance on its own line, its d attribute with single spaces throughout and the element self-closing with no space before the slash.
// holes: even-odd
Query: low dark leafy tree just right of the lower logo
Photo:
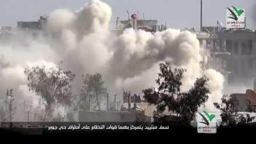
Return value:
<svg viewBox="0 0 256 144">
<path fill-rule="evenodd" d="M 214 102 L 214 106 L 221 111 L 220 116 L 222 125 L 235 126 L 248 124 L 255 118 L 254 116 L 251 117 L 249 114 L 246 114 L 246 117 L 244 117 L 243 114 L 238 113 L 238 101 L 236 97 L 223 95 L 221 104 Z M 250 110 L 250 108 L 247 109 Z"/>
</svg>

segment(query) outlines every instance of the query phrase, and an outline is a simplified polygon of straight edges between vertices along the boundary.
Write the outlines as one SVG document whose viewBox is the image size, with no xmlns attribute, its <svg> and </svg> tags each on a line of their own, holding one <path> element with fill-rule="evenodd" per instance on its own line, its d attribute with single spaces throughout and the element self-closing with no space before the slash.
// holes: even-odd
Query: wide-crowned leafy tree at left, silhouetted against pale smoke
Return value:
<svg viewBox="0 0 256 144">
<path fill-rule="evenodd" d="M 51 67 L 45 70 L 43 67 L 26 68 L 24 74 L 28 77 L 29 91 L 33 91 L 45 100 L 45 113 L 43 121 L 52 116 L 52 105 L 71 104 L 72 86 L 71 81 L 75 75 L 71 71 L 64 71 L 60 67 Z"/>
</svg>

